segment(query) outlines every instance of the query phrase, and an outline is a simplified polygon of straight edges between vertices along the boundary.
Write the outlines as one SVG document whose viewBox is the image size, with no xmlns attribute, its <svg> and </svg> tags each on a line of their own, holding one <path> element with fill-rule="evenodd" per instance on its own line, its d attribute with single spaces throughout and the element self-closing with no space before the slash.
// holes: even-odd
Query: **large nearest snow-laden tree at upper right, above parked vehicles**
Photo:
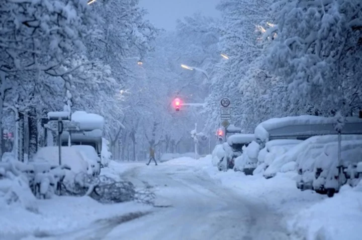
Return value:
<svg viewBox="0 0 362 240">
<path fill-rule="evenodd" d="M 291 113 L 350 114 L 361 104 L 362 5 L 279 1 L 277 37 L 264 61 L 288 87 Z"/>
</svg>

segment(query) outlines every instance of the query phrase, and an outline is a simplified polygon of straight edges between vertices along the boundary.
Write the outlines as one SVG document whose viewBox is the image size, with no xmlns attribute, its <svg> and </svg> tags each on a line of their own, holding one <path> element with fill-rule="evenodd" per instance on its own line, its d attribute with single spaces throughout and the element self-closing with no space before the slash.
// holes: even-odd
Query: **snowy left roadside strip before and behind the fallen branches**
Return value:
<svg viewBox="0 0 362 240">
<path fill-rule="evenodd" d="M 127 169 L 127 164 L 113 161 L 102 174 L 120 180 L 120 174 Z M 13 240 L 27 235 L 46 236 L 49 233 L 68 232 L 87 227 L 97 220 L 146 212 L 152 208 L 136 202 L 101 204 L 88 196 L 55 195 L 52 199 L 36 199 L 36 204 L 39 213 L 28 211 L 17 203 L 0 204 L 0 239 Z"/>
</svg>

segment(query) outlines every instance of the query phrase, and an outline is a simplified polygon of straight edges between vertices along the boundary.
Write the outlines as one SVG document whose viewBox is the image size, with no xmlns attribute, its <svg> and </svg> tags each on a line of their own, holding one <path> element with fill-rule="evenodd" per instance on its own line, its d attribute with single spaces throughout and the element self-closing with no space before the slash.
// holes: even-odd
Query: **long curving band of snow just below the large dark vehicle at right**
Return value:
<svg viewBox="0 0 362 240">
<path fill-rule="evenodd" d="M 329 142 L 337 141 L 337 135 L 324 135 L 310 137 L 302 143 L 294 146 L 286 153 L 277 156 L 275 160 L 265 169 L 264 177 L 273 177 L 277 172 L 281 171 L 284 164 L 288 162 L 296 162 L 299 154 L 305 151 L 309 145 L 327 144 Z M 342 135 L 342 141 L 346 140 L 362 140 L 362 135 Z"/>
</svg>

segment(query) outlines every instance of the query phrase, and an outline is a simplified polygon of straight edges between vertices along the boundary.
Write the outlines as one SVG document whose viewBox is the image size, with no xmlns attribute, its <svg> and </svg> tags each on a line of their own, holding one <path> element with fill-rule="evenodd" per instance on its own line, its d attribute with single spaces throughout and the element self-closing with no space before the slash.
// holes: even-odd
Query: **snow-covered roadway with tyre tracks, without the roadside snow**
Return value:
<svg viewBox="0 0 362 240">
<path fill-rule="evenodd" d="M 130 221 L 97 221 L 42 239 L 290 239 L 283 217 L 264 201 L 239 195 L 194 164 L 125 165 L 121 177 L 139 187 L 153 186 L 158 207 Z"/>
</svg>

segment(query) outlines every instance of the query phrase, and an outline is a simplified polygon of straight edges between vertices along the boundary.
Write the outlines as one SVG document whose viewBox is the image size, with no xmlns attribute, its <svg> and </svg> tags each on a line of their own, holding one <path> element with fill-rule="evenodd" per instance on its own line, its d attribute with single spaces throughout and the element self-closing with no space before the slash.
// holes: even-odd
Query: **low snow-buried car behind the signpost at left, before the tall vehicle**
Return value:
<svg viewBox="0 0 362 240">
<path fill-rule="evenodd" d="M 59 166 L 59 150 L 57 146 L 42 147 L 31 159 L 34 163 L 49 163 L 51 166 Z M 73 181 L 78 173 L 87 173 L 88 162 L 84 156 L 72 147 L 61 147 L 61 164 L 70 167 L 66 170 L 64 181 Z"/>
</svg>

